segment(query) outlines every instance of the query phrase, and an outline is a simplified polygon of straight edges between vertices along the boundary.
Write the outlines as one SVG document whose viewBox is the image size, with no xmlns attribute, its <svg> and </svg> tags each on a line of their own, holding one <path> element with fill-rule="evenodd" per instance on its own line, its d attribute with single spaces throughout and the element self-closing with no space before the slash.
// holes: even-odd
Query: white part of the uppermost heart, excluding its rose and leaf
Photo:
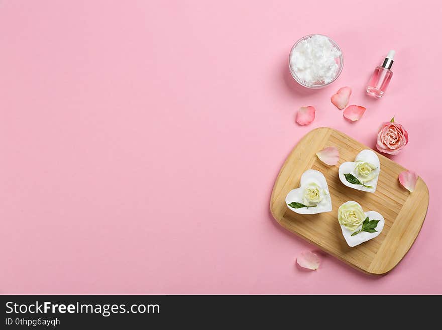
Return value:
<svg viewBox="0 0 442 330">
<path fill-rule="evenodd" d="M 361 163 L 368 163 L 375 167 L 373 169 L 374 178 L 370 181 L 362 182 L 363 178 L 357 173 L 357 166 Z M 345 162 L 342 163 L 339 167 L 339 179 L 342 183 L 344 183 L 347 187 L 367 191 L 367 192 L 375 192 L 376 185 L 378 184 L 379 173 L 381 171 L 381 163 L 379 162 L 378 155 L 373 150 L 365 149 L 361 151 L 355 158 L 354 162 Z M 358 178 L 362 183 L 366 186 L 371 186 L 372 188 L 365 187 L 361 184 L 353 184 L 347 181 L 344 174 L 352 174 L 356 178 Z"/>
</svg>

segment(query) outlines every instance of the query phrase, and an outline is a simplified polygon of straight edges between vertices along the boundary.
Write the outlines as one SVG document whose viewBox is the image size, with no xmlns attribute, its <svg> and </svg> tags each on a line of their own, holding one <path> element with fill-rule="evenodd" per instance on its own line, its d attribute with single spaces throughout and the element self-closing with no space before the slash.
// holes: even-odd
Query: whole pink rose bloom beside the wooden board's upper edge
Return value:
<svg viewBox="0 0 442 330">
<path fill-rule="evenodd" d="M 380 152 L 397 155 L 408 143 L 408 132 L 405 131 L 402 125 L 394 122 L 394 117 L 391 122 L 382 123 L 379 133 L 376 148 Z"/>
</svg>

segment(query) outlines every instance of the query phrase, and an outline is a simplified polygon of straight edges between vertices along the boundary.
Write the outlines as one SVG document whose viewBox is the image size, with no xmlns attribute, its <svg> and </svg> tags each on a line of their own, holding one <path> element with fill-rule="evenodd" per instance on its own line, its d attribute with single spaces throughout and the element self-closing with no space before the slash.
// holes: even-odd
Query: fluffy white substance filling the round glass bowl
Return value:
<svg viewBox="0 0 442 330">
<path fill-rule="evenodd" d="M 338 73 L 336 58 L 341 52 L 327 37 L 313 35 L 299 42 L 290 54 L 296 76 L 310 85 L 329 83 Z"/>
</svg>

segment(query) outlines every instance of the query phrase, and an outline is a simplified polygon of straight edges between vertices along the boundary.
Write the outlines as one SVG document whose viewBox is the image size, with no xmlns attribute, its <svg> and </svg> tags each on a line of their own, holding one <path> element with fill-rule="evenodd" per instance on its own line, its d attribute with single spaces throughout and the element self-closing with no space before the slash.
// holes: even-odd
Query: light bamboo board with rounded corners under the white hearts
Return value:
<svg viewBox="0 0 442 330">
<path fill-rule="evenodd" d="M 316 152 L 335 146 L 340 153 L 336 166 L 323 164 Z M 358 141 L 330 128 L 318 128 L 305 135 L 292 150 L 279 172 L 270 199 L 270 210 L 276 221 L 285 229 L 317 245 L 325 252 L 345 263 L 370 274 L 385 274 L 405 256 L 419 234 L 428 208 L 428 188 L 419 177 L 413 193 L 403 188 L 398 180 L 405 170 L 399 164 L 376 153 L 381 162 L 381 172 L 375 193 L 363 192 L 345 186 L 338 177 L 339 165 L 354 161 L 364 149 L 371 149 Z M 308 169 L 324 174 L 333 209 L 319 214 L 298 214 L 291 211 L 285 196 L 299 187 L 301 175 Z M 364 211 L 374 210 L 385 218 L 382 233 L 361 245 L 347 245 L 338 223 L 338 207 L 354 200 Z"/>
</svg>

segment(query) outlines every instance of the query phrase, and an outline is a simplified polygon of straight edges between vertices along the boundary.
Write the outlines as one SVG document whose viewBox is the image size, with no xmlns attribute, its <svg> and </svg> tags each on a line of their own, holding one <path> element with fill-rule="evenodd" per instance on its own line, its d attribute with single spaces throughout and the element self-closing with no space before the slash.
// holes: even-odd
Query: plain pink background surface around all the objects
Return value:
<svg viewBox="0 0 442 330">
<path fill-rule="evenodd" d="M 0 293 L 442 293 L 441 16 L 436 1 L 0 2 Z M 305 92 L 287 58 L 310 33 L 345 66 Z M 389 49 L 390 87 L 369 99 Z M 367 107 L 355 124 L 329 101 L 345 85 Z M 384 277 L 325 254 L 298 269 L 314 247 L 269 212 L 285 157 L 323 126 L 374 146 L 394 115 L 410 142 L 392 159 L 430 191 L 414 246 Z"/>
</svg>

